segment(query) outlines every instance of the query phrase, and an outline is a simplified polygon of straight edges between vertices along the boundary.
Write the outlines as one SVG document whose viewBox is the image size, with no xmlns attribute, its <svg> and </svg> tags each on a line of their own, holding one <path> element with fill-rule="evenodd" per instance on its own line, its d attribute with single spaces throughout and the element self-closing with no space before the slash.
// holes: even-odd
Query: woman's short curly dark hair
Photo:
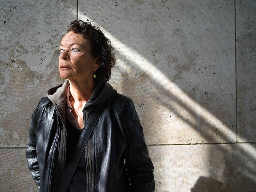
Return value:
<svg viewBox="0 0 256 192">
<path fill-rule="evenodd" d="M 91 22 L 83 20 L 74 20 L 66 29 L 66 32 L 73 31 L 80 33 L 84 39 L 89 40 L 91 54 L 98 57 L 100 65 L 96 73 L 95 81 L 106 82 L 111 77 L 111 68 L 116 63 L 116 57 L 113 53 L 114 47 L 111 45 L 110 39 L 106 38 L 99 27 L 93 26 Z"/>
</svg>

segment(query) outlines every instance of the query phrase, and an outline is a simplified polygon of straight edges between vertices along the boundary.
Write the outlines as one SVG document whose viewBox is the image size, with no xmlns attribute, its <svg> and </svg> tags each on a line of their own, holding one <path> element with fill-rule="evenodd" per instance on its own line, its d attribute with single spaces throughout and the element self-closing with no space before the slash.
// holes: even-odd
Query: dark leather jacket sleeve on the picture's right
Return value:
<svg viewBox="0 0 256 192">
<path fill-rule="evenodd" d="M 127 139 L 124 150 L 125 168 L 130 179 L 130 191 L 155 190 L 154 166 L 148 154 L 143 128 L 132 99 L 126 106 L 122 126 Z"/>
</svg>

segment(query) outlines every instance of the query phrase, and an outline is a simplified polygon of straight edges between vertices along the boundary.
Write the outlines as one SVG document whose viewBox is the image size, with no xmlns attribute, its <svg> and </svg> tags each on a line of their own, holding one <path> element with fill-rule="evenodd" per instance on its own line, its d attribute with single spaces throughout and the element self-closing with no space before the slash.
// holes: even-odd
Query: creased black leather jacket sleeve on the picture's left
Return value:
<svg viewBox="0 0 256 192">
<path fill-rule="evenodd" d="M 33 180 L 36 183 L 37 188 L 40 191 L 40 175 L 39 175 L 39 167 L 38 167 L 38 161 L 37 161 L 37 155 L 36 155 L 36 132 L 37 132 L 37 123 L 38 123 L 37 109 L 38 109 L 38 105 L 33 115 L 31 116 L 32 121 L 29 129 L 28 143 L 27 143 L 27 148 L 25 150 L 25 154 L 28 162 L 28 169 L 33 177 Z"/>
</svg>

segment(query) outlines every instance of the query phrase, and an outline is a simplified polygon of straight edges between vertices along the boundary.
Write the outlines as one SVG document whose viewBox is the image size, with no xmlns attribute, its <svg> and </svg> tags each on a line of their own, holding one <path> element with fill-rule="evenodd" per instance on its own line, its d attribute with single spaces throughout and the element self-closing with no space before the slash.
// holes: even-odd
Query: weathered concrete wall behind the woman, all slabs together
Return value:
<svg viewBox="0 0 256 192">
<path fill-rule="evenodd" d="M 30 117 L 63 82 L 58 46 L 76 18 L 116 48 L 109 83 L 135 103 L 156 191 L 256 191 L 255 1 L 25 0 L 0 10 L 0 191 L 37 191 Z"/>
</svg>

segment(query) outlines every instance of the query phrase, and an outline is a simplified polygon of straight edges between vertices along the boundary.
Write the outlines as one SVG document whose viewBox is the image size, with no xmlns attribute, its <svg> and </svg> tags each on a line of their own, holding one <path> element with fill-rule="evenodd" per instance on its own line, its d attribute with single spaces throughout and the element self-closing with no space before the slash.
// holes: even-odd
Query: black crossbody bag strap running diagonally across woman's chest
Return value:
<svg viewBox="0 0 256 192">
<path fill-rule="evenodd" d="M 92 113 L 90 114 L 84 129 L 79 137 L 79 140 L 77 142 L 76 145 L 76 149 L 73 152 L 73 154 L 71 155 L 68 164 L 66 165 L 63 175 L 60 179 L 60 183 L 57 186 L 57 189 L 55 192 L 65 192 L 68 188 L 68 185 L 73 177 L 73 174 L 76 170 L 76 167 L 79 163 L 79 160 L 81 158 L 81 155 L 84 151 L 84 148 L 88 142 L 88 139 L 100 117 L 101 111 L 104 107 L 105 102 L 100 103 L 98 105 L 95 105 Z"/>
</svg>

